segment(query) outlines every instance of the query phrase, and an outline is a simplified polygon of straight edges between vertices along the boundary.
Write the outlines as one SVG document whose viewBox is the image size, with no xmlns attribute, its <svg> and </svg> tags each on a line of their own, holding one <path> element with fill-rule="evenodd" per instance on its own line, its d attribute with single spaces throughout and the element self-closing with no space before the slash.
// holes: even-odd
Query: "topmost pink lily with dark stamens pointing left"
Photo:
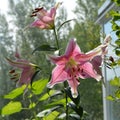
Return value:
<svg viewBox="0 0 120 120">
<path fill-rule="evenodd" d="M 45 10 L 43 7 L 35 8 L 31 17 L 37 16 L 30 27 L 38 27 L 41 29 L 54 29 L 54 20 L 56 16 L 56 10 L 61 3 L 57 3 L 50 11 Z"/>
</svg>

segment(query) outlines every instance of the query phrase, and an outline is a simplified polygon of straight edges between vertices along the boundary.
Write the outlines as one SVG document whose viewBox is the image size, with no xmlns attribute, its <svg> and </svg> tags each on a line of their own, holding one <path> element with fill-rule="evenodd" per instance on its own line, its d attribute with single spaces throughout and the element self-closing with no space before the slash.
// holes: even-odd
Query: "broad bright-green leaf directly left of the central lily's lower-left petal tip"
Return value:
<svg viewBox="0 0 120 120">
<path fill-rule="evenodd" d="M 41 94 L 48 83 L 48 79 L 41 79 L 33 82 L 32 91 L 34 94 Z"/>
</svg>

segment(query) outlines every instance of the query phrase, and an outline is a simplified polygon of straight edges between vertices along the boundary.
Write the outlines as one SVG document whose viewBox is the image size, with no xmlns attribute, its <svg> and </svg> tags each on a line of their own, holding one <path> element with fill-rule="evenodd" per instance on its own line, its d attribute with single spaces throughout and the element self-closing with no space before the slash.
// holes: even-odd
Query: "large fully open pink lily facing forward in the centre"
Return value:
<svg viewBox="0 0 120 120">
<path fill-rule="evenodd" d="M 103 56 L 106 54 L 107 46 L 108 43 L 104 43 L 88 53 L 82 53 L 77 43 L 73 39 L 70 40 L 64 55 L 49 55 L 49 59 L 56 64 L 56 67 L 52 71 L 48 87 L 52 88 L 55 84 L 67 80 L 72 96 L 76 98 L 78 96 L 77 86 L 80 83 L 79 78 L 101 80 L 102 74 L 99 67 Z M 99 64 L 95 66 L 97 58 L 99 58 Z"/>
</svg>

